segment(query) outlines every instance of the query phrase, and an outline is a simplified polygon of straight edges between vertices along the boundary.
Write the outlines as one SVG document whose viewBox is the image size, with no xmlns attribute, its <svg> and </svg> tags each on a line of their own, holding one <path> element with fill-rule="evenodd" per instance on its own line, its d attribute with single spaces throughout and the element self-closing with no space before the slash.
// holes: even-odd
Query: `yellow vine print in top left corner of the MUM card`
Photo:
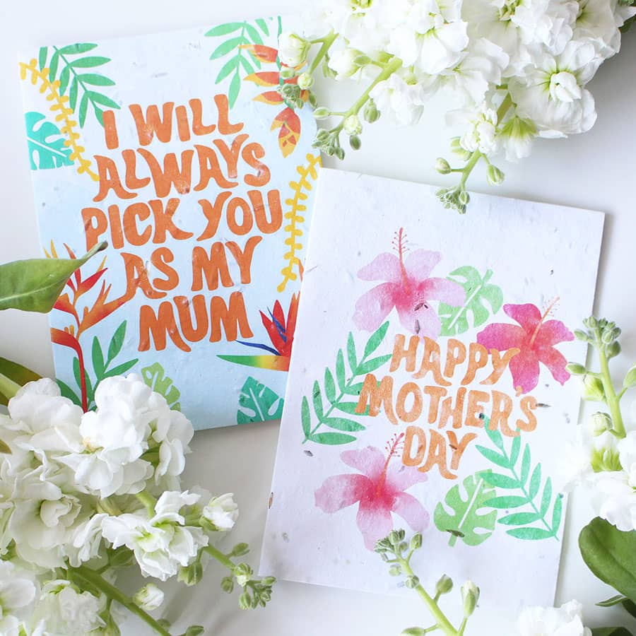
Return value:
<svg viewBox="0 0 636 636">
<path fill-rule="evenodd" d="M 29 64 L 20 62 L 20 78 L 25 80 L 29 74 L 33 86 L 37 86 L 40 83 L 40 93 L 47 93 L 47 101 L 52 102 L 49 108 L 55 114 L 55 121 L 64 124 L 59 131 L 68 137 L 64 144 L 71 148 L 69 159 L 78 163 L 78 174 L 83 175 L 86 173 L 93 181 L 99 181 L 100 177 L 90 169 L 90 160 L 83 156 L 86 149 L 78 143 L 80 135 L 73 130 L 78 124 L 75 119 L 71 118 L 73 110 L 68 106 L 68 96 L 60 95 L 59 93 L 59 80 L 49 81 L 49 69 L 38 69 L 35 58 Z"/>
</svg>

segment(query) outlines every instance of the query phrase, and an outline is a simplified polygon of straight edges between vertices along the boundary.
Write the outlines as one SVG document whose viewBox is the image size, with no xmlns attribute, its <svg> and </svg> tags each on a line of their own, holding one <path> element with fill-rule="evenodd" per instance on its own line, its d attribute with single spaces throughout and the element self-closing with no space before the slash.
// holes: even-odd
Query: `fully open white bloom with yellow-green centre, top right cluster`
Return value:
<svg viewBox="0 0 636 636">
<path fill-rule="evenodd" d="M 596 121 L 596 111 L 594 98 L 584 86 L 599 64 L 589 43 L 569 42 L 558 57 L 543 54 L 524 81 L 510 80 L 517 112 L 531 119 L 542 137 L 587 132 Z"/>
</svg>

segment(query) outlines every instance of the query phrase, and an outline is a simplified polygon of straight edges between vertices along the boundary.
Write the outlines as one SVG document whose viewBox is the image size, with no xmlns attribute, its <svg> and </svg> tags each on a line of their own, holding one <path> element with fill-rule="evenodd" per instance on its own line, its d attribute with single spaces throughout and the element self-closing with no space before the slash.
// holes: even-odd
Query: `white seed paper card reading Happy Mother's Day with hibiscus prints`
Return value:
<svg viewBox="0 0 636 636">
<path fill-rule="evenodd" d="M 553 602 L 565 365 L 602 228 L 495 196 L 460 216 L 425 185 L 322 171 L 261 572 L 398 591 L 372 550 L 404 528 L 429 589 L 472 579 L 501 616 Z"/>
</svg>

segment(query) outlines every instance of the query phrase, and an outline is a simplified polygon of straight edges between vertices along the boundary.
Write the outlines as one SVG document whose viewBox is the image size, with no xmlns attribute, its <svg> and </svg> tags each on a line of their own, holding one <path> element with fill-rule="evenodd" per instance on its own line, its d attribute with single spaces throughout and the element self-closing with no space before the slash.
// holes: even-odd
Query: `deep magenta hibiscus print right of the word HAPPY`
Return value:
<svg viewBox="0 0 636 636">
<path fill-rule="evenodd" d="M 477 335 L 477 342 L 488 349 L 508 351 L 519 349 L 510 359 L 512 384 L 519 393 L 528 393 L 538 384 L 539 363 L 546 365 L 553 378 L 565 384 L 570 374 L 565 370 L 567 360 L 555 345 L 574 340 L 574 334 L 560 320 L 548 320 L 555 302 L 541 314 L 538 307 L 504 305 L 504 311 L 516 324 L 490 324 Z"/>
</svg>

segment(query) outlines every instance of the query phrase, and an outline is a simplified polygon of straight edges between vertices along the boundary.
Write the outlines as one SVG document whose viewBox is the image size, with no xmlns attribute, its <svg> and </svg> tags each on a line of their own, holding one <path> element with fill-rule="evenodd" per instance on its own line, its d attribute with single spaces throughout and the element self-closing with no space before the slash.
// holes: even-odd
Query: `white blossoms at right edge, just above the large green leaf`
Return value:
<svg viewBox="0 0 636 636">
<path fill-rule="evenodd" d="M 632 406 L 636 423 L 636 404 Z M 597 516 L 619 530 L 636 530 L 636 428 L 617 438 L 608 430 L 608 416 L 594 413 L 578 431 L 563 458 L 570 485 L 582 485 Z"/>
</svg>

